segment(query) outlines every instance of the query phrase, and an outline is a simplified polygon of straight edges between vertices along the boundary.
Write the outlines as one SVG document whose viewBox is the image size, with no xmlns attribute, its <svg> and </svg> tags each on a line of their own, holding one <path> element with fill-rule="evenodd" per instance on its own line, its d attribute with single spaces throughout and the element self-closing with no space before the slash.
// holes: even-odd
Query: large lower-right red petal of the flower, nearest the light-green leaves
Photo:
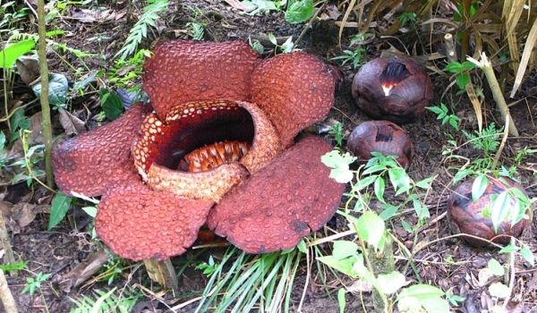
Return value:
<svg viewBox="0 0 537 313">
<path fill-rule="evenodd" d="M 320 138 L 301 140 L 228 193 L 210 212 L 209 228 L 251 253 L 294 247 L 339 205 L 345 185 L 320 162 L 329 150 Z"/>
</svg>

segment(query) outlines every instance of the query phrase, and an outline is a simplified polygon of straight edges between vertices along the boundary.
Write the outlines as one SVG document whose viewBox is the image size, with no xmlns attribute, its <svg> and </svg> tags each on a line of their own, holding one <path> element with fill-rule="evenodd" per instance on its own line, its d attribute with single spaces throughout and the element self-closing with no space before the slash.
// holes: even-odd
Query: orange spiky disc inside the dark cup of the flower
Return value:
<svg viewBox="0 0 537 313">
<path fill-rule="evenodd" d="M 197 148 L 184 156 L 183 160 L 188 165 L 188 172 L 204 172 L 225 163 L 239 161 L 249 149 L 250 146 L 245 141 L 222 141 Z M 179 166 L 184 165 L 180 163 Z"/>
</svg>

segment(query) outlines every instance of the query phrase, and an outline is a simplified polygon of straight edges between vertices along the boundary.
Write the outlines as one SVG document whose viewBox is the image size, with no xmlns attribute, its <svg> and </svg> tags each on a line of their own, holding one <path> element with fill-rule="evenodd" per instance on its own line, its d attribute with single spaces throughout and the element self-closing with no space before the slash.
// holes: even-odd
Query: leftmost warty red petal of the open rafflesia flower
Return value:
<svg viewBox="0 0 537 313">
<path fill-rule="evenodd" d="M 139 180 L 131 157 L 146 107 L 132 106 L 112 123 L 65 140 L 52 151 L 55 182 L 63 192 L 98 196 L 110 182 Z"/>
</svg>

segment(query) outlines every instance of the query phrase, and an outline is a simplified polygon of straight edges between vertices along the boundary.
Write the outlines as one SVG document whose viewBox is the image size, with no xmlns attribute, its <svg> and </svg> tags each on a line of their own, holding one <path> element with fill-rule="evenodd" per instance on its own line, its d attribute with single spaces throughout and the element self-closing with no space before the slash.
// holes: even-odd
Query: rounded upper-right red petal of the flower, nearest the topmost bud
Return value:
<svg viewBox="0 0 537 313">
<path fill-rule="evenodd" d="M 334 103 L 336 80 L 328 64 L 313 55 L 295 52 L 265 60 L 251 81 L 251 102 L 268 114 L 285 147 Z"/>
</svg>

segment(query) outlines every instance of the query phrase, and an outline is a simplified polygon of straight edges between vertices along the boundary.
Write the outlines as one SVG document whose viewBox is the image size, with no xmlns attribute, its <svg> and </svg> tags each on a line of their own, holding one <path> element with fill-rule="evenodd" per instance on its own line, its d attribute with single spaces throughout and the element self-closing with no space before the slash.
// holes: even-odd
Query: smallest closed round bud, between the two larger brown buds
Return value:
<svg viewBox="0 0 537 313">
<path fill-rule="evenodd" d="M 347 149 L 360 161 L 367 161 L 371 152 L 397 157 L 399 165 L 408 169 L 413 158 L 413 144 L 406 131 L 388 121 L 370 121 L 358 125 L 347 140 Z"/>
</svg>

